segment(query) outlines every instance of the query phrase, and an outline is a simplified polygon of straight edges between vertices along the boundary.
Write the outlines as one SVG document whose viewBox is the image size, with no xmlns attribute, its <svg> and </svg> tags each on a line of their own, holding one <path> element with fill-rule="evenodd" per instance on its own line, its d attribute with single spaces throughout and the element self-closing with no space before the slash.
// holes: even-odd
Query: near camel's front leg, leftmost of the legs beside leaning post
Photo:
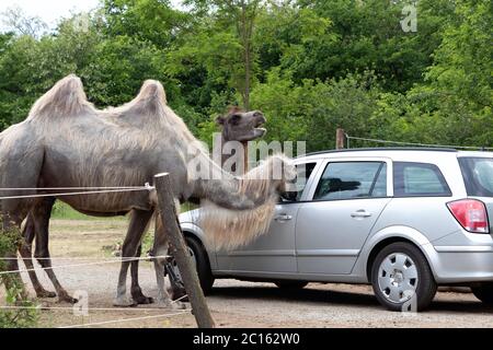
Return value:
<svg viewBox="0 0 493 350">
<path fill-rule="evenodd" d="M 137 256 L 138 247 L 140 246 L 144 233 L 152 218 L 152 210 L 137 210 L 131 212 L 130 224 L 128 225 L 127 235 L 122 248 L 122 258 L 134 258 Z M 130 261 L 122 261 L 122 267 L 118 276 L 118 287 L 116 290 L 116 298 L 113 302 L 115 306 L 133 306 L 135 302 L 127 299 L 127 272 Z M 139 287 L 140 289 L 140 287 Z"/>
</svg>

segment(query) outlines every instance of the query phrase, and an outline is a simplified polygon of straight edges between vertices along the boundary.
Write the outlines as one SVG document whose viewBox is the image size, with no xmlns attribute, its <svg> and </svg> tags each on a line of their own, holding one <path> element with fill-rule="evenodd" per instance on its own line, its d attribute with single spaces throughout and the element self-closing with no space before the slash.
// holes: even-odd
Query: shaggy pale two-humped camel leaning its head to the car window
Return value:
<svg viewBox="0 0 493 350">
<path fill-rule="evenodd" d="M 278 191 L 285 190 L 296 174 L 282 155 L 272 156 L 243 177 L 223 172 L 167 105 L 164 89 L 157 81 L 146 81 L 128 104 L 98 110 L 74 75 L 55 84 L 34 104 L 26 120 L 0 135 L 0 160 L 3 188 L 141 186 L 152 182 L 153 174 L 168 172 L 176 201 L 199 198 L 204 202 L 204 228 L 217 247 L 245 244 L 264 232 Z M 283 176 L 273 176 L 278 167 Z M 37 192 L 12 189 L 3 196 Z M 44 192 L 54 194 L 49 189 Z M 136 256 L 157 205 L 154 190 L 58 199 L 93 215 L 131 211 L 124 257 Z M 30 212 L 36 213 L 43 206 L 41 199 L 3 199 L 3 225 L 20 226 Z M 36 234 L 42 222 L 34 220 Z M 165 249 L 163 230 L 157 230 L 153 255 L 163 256 Z M 8 257 L 14 256 L 12 252 Z M 154 259 L 158 303 L 169 306 L 162 262 Z M 122 262 L 115 305 L 133 304 L 126 299 L 129 265 Z M 18 269 L 15 259 L 10 260 L 10 269 Z"/>
</svg>

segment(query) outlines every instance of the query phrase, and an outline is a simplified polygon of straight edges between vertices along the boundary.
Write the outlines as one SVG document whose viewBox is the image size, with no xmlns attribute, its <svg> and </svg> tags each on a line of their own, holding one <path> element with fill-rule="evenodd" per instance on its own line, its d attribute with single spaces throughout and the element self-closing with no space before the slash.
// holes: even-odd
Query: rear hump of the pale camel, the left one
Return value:
<svg viewBox="0 0 493 350">
<path fill-rule="evenodd" d="M 31 108 L 28 118 L 42 115 L 70 116 L 92 108 L 79 77 L 70 74 L 59 80 Z"/>
</svg>

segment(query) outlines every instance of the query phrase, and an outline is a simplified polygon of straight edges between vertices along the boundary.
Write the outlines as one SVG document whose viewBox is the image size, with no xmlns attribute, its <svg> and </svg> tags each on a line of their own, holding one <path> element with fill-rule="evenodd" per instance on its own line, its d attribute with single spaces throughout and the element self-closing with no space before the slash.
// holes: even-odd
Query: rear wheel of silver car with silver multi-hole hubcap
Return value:
<svg viewBox="0 0 493 350">
<path fill-rule="evenodd" d="M 404 242 L 378 253 L 371 267 L 371 284 L 378 301 L 391 311 L 422 311 L 436 293 L 436 282 L 421 250 Z"/>
</svg>

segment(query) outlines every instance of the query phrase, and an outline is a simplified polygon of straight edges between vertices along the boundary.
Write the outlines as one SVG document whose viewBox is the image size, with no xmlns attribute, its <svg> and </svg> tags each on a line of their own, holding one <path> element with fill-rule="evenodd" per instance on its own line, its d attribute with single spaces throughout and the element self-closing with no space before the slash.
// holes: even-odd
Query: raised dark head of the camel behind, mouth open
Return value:
<svg viewBox="0 0 493 350">
<path fill-rule="evenodd" d="M 266 119 L 262 112 L 243 112 L 238 107 L 231 108 L 228 114 L 219 116 L 216 122 L 222 128 L 225 141 L 246 142 L 257 139 L 265 133 L 261 128 Z"/>
</svg>

